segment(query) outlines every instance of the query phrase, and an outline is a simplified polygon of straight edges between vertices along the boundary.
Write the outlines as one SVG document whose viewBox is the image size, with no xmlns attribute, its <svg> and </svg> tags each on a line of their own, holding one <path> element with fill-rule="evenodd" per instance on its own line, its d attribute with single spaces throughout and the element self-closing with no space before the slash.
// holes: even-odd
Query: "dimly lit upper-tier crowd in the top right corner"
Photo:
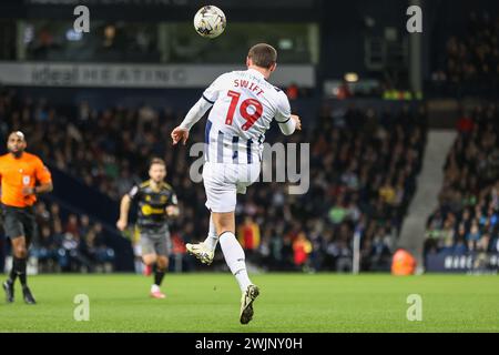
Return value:
<svg viewBox="0 0 499 355">
<path fill-rule="evenodd" d="M 452 95 L 497 94 L 499 16 L 471 12 L 464 33 L 448 39 L 445 63 L 432 79 Z"/>
</svg>

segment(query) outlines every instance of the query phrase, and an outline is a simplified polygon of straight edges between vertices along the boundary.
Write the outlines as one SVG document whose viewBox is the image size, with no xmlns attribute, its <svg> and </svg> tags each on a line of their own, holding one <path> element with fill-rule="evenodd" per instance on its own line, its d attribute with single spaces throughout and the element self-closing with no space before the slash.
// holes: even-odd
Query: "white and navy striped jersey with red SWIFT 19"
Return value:
<svg viewBox="0 0 499 355">
<path fill-rule="evenodd" d="M 205 129 L 205 160 L 210 162 L 261 161 L 272 120 L 291 120 L 286 94 L 254 69 L 220 75 L 203 99 L 213 104 Z"/>
</svg>

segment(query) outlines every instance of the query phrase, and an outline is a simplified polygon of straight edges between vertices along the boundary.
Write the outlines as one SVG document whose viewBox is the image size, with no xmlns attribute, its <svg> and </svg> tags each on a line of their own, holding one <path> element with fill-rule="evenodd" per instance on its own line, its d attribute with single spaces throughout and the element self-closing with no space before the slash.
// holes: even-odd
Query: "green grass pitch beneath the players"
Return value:
<svg viewBox="0 0 499 355">
<path fill-rule="evenodd" d="M 167 274 L 165 300 L 149 297 L 141 275 L 30 277 L 38 304 L 0 300 L 0 332 L 498 332 L 497 276 L 337 274 L 254 275 L 255 316 L 238 323 L 240 292 L 231 274 Z M 77 322 L 77 294 L 90 320 Z M 419 294 L 422 321 L 409 322 L 407 296 Z M 2 297 L 3 298 L 3 297 Z"/>
</svg>

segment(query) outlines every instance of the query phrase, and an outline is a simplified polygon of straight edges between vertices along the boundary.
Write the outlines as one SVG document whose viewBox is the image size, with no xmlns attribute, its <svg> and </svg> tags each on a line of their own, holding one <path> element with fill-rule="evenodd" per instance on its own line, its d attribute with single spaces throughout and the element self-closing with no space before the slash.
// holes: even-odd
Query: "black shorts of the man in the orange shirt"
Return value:
<svg viewBox="0 0 499 355">
<path fill-rule="evenodd" d="M 14 207 L 2 204 L 3 230 L 11 240 L 24 236 L 29 245 L 37 236 L 37 220 L 34 207 Z"/>
</svg>

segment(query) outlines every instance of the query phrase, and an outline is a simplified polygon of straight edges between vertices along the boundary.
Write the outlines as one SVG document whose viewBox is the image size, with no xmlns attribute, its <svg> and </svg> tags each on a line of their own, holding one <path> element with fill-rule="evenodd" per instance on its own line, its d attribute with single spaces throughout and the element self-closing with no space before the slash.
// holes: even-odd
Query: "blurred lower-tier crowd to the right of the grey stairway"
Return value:
<svg viewBox="0 0 499 355">
<path fill-rule="evenodd" d="M 426 253 L 499 252 L 499 110 L 477 105 L 458 122 Z"/>
</svg>

